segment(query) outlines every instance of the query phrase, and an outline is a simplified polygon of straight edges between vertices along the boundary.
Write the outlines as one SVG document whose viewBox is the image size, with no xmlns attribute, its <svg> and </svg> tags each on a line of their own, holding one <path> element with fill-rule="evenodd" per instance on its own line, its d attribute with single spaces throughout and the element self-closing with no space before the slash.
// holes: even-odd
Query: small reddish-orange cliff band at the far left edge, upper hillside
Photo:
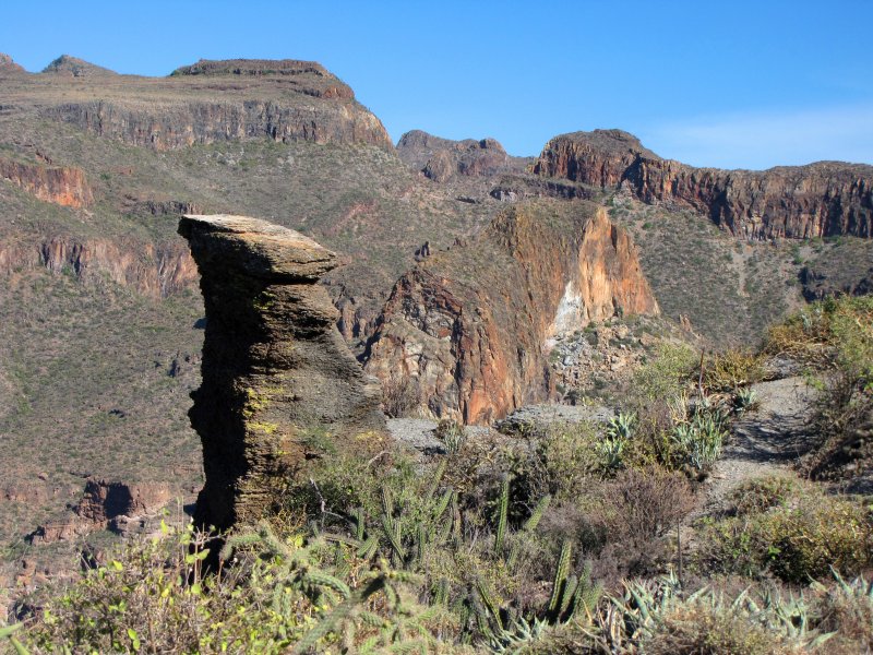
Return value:
<svg viewBox="0 0 873 655">
<path fill-rule="evenodd" d="M 0 178 L 46 202 L 70 207 L 84 207 L 94 202 L 85 174 L 79 168 L 41 166 L 0 158 Z"/>
</svg>

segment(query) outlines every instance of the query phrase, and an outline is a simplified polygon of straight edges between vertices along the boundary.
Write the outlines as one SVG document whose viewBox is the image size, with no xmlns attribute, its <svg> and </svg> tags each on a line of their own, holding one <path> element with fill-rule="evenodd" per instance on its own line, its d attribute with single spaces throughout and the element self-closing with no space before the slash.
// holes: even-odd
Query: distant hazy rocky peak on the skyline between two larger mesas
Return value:
<svg viewBox="0 0 873 655">
<path fill-rule="evenodd" d="M 526 160 L 506 154 L 494 139 L 452 141 L 421 130 L 407 132 L 397 142 L 400 159 L 436 182 L 455 176 L 491 177 L 524 170 Z"/>
</svg>

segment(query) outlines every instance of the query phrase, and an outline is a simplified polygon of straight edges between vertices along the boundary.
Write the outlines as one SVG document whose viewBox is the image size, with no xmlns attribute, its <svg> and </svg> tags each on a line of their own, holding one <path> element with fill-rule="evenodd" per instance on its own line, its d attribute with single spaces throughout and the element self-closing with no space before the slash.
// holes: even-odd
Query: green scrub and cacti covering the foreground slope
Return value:
<svg viewBox="0 0 873 655">
<path fill-rule="evenodd" d="M 828 301 L 770 332 L 768 352 L 828 381 L 823 417 L 869 402 L 870 312 L 870 299 Z M 869 498 L 769 477 L 721 513 L 690 516 L 765 376 L 758 355 L 701 369 L 668 345 L 606 425 L 453 437 L 423 461 L 324 457 L 277 515 L 223 545 L 170 528 L 131 543 L 27 598 L 13 636 L 21 652 L 873 648 Z"/>
</svg>

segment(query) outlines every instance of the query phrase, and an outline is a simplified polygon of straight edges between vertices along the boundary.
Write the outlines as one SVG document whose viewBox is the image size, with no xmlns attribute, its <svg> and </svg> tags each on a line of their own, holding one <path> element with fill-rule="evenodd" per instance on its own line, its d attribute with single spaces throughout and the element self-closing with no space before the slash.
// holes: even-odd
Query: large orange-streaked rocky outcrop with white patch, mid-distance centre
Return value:
<svg viewBox="0 0 873 655">
<path fill-rule="evenodd" d="M 549 394 L 551 337 L 622 312 L 658 312 L 627 234 L 594 205 L 522 204 L 400 278 L 366 370 L 408 378 L 432 415 L 489 422 Z"/>
</svg>

